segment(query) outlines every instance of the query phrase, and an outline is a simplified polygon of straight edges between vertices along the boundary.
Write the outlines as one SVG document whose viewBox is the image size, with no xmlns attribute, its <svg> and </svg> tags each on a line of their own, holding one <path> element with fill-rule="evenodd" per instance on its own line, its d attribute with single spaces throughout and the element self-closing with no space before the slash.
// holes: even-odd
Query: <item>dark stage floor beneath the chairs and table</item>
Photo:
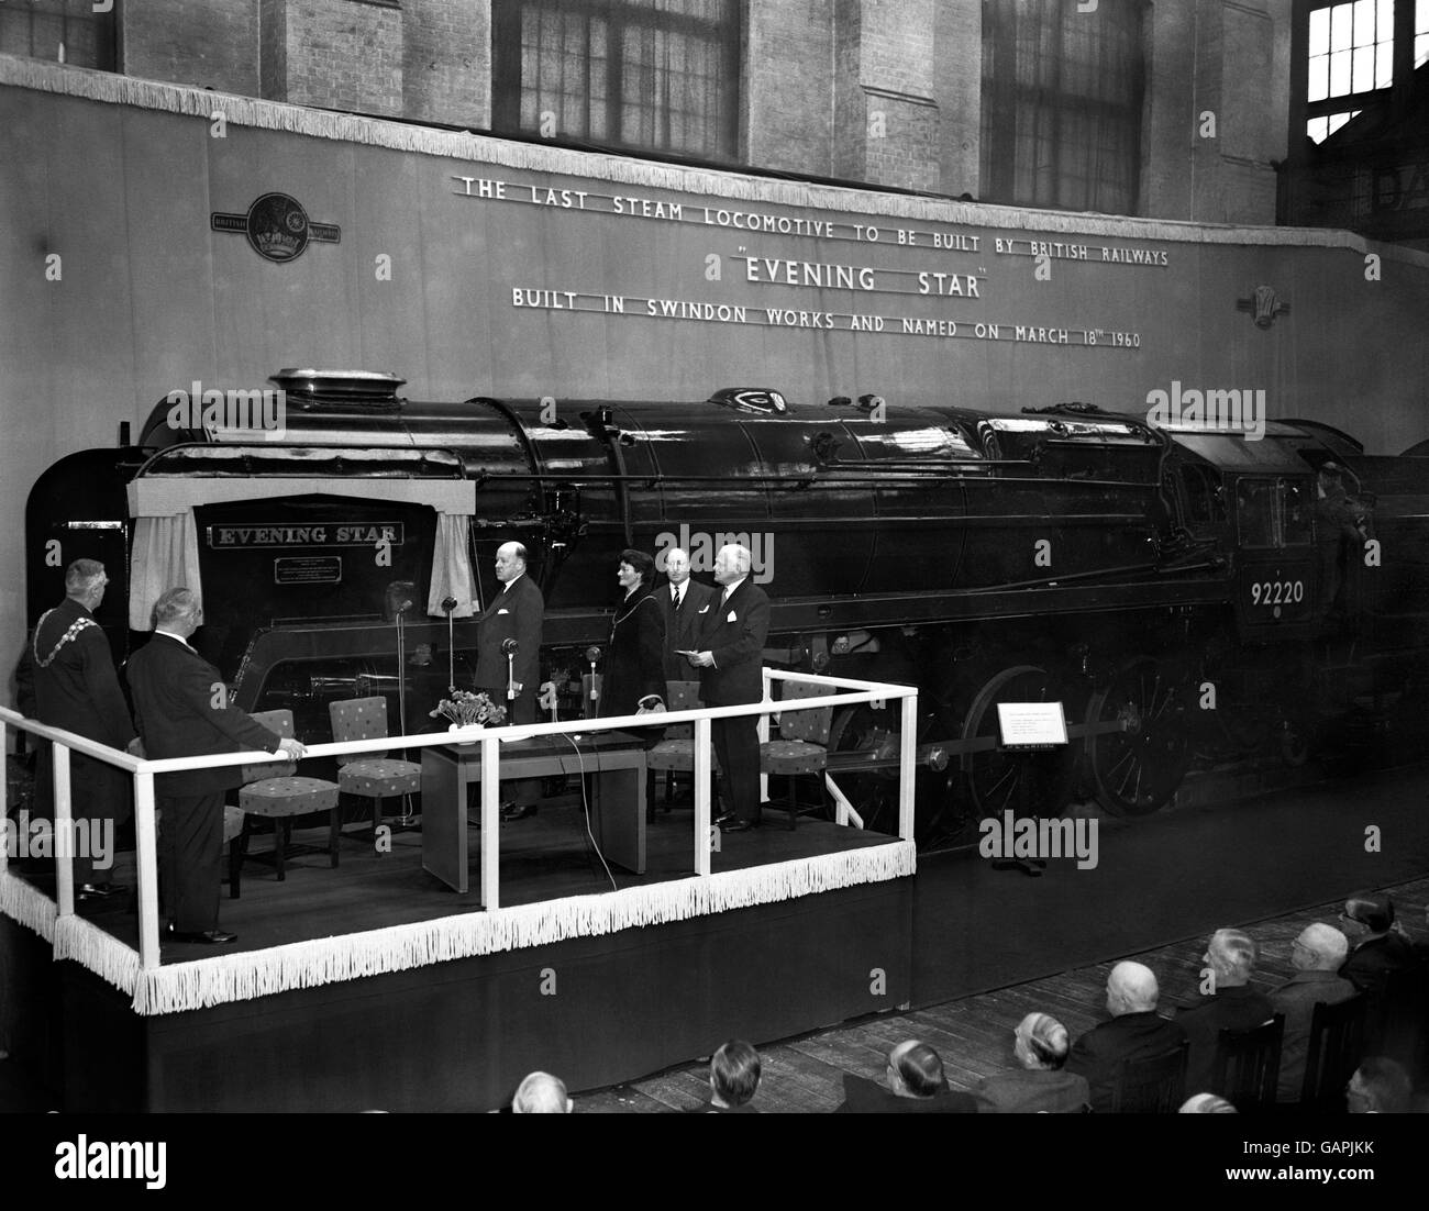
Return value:
<svg viewBox="0 0 1429 1211">
<path fill-rule="evenodd" d="M 610 865 L 610 874 L 586 833 L 579 795 L 543 803 L 537 815 L 502 825 L 500 897 L 503 907 L 532 904 L 570 895 L 594 895 L 614 888 L 643 887 L 693 874 L 694 813 L 686 801 L 657 811 L 646 835 L 646 873 L 636 875 Z M 879 833 L 840 828 L 829 821 L 800 817 L 795 831 L 789 814 L 766 808 L 757 830 L 722 834 L 720 850 L 710 855 L 714 874 L 746 870 L 767 863 L 847 853 L 890 840 Z M 392 824 L 392 820 L 387 821 Z M 364 837 L 363 831 L 369 835 Z M 379 853 L 370 840 L 370 824 L 347 824 L 340 848 L 340 865 L 333 870 L 323 853 L 304 853 L 287 861 L 287 877 L 279 883 L 273 867 L 249 861 L 243 867 L 240 898 L 229 898 L 227 860 L 219 903 L 219 923 L 239 935 L 224 947 L 164 943 L 164 963 L 210 958 L 249 950 L 263 950 L 307 938 L 356 934 L 387 925 L 427 921 L 460 913 L 482 911 L 480 831 L 470 828 L 469 870 L 472 890 L 457 894 L 422 868 L 422 834 L 392 833 L 390 853 Z M 293 843 L 326 845 L 326 825 L 294 830 Z M 266 835 L 254 838 L 253 851 L 266 850 Z M 133 887 L 134 854 L 123 851 L 106 873 L 113 883 Z M 54 894 L 53 877 L 29 881 Z M 613 880 L 613 883 L 612 883 Z M 137 947 L 137 915 L 127 904 L 87 903 L 80 914 L 116 938 Z"/>
</svg>

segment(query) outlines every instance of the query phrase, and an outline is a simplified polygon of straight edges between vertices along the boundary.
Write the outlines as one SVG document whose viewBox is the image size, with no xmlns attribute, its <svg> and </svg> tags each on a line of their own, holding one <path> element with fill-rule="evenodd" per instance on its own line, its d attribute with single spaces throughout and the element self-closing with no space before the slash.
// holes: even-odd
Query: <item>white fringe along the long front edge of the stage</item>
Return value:
<svg viewBox="0 0 1429 1211">
<path fill-rule="evenodd" d="M 709 878 L 520 904 L 494 913 L 463 913 L 364 934 L 170 964 L 137 974 L 134 1012 L 146 1017 L 176 1014 L 566 938 L 684 921 L 840 887 L 903 878 L 916 871 L 916 863 L 912 843 L 893 841 L 842 854 L 725 871 Z"/>
</svg>

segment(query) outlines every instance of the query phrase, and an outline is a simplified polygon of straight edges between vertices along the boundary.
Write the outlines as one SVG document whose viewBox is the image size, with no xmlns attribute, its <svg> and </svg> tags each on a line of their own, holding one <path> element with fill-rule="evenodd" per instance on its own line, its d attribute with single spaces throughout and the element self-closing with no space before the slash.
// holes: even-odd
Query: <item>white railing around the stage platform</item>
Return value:
<svg viewBox="0 0 1429 1211">
<path fill-rule="evenodd" d="M 832 693 L 817 698 L 792 698 L 770 701 L 769 683 L 803 681 L 830 687 Z M 765 700 L 737 707 L 700 707 L 687 711 L 666 711 L 659 715 L 619 715 L 612 718 L 582 718 L 556 723 L 516 724 L 497 728 L 463 728 L 459 731 L 429 733 L 422 735 L 384 735 L 373 740 L 353 740 L 344 743 L 309 744 L 309 757 L 329 757 L 353 753 L 390 753 L 394 750 L 429 748 L 442 744 L 480 743 L 482 745 L 482 794 L 480 794 L 480 828 L 482 828 L 482 905 L 487 910 L 500 907 L 500 750 L 503 743 L 524 740 L 527 737 L 567 735 L 580 733 L 587 735 L 594 731 L 636 730 L 643 727 L 666 727 L 669 724 L 690 723 L 694 725 L 694 851 L 693 864 L 697 877 L 710 875 L 710 853 L 713 847 L 713 833 L 710 828 L 710 720 L 730 718 L 737 715 L 767 717 L 770 713 L 820 710 L 823 707 L 852 707 L 860 703 L 885 705 L 902 701 L 902 747 L 899 754 L 899 837 L 905 841 L 913 838 L 913 773 L 917 741 L 917 691 L 907 685 L 886 685 L 877 681 L 856 681 L 847 677 L 823 677 L 803 673 L 783 673 L 765 670 Z M 16 727 L 31 735 L 50 740 L 53 748 L 53 778 L 54 778 L 54 837 L 73 837 L 73 810 L 70 803 L 70 750 L 83 753 L 97 761 L 117 765 L 129 771 L 134 778 L 134 843 L 137 867 L 137 903 L 139 903 L 139 963 L 143 970 L 154 970 L 160 965 L 159 950 L 159 863 L 157 863 L 157 830 L 154 821 L 154 775 L 169 774 L 177 770 L 211 770 L 227 765 L 257 765 L 264 761 L 280 764 L 290 758 L 269 753 L 227 753 L 214 757 L 171 757 L 161 761 L 143 760 L 117 748 L 109 748 L 93 740 L 86 740 L 71 731 L 47 727 L 26 718 L 17 711 L 0 707 L 0 753 L 9 751 L 7 730 Z M 762 718 L 762 728 L 767 728 L 767 718 Z M 492 777 L 486 777 L 486 771 Z M 832 785 L 832 780 L 830 780 Z M 850 808 L 846 798 L 837 793 L 839 824 L 847 824 Z M 7 780 L 0 778 L 0 820 L 7 818 Z M 636 804 L 636 810 L 643 813 L 644 803 Z M 74 914 L 74 870 L 73 848 L 63 848 L 56 844 L 56 907 L 60 917 Z M 4 873 L 6 854 L 0 845 L 0 875 Z"/>
</svg>

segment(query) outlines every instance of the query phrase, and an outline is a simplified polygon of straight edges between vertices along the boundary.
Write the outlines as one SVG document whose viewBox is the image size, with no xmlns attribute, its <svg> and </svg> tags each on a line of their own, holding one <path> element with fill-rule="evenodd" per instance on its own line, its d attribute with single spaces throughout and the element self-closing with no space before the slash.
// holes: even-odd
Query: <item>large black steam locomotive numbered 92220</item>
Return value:
<svg viewBox="0 0 1429 1211">
<path fill-rule="evenodd" d="M 70 560 L 103 560 L 121 661 L 157 591 L 197 580 L 197 643 L 239 705 L 290 707 L 323 738 L 332 697 L 397 690 L 420 731 L 470 684 L 466 615 L 502 543 L 530 551 L 564 688 L 609 634 L 622 548 L 684 547 L 699 576 L 742 541 L 773 598 L 766 663 L 919 687 L 925 835 L 1055 814 L 1079 783 L 1153 811 L 1206 744 L 1303 760 L 1365 695 L 1410 694 L 1429 651 L 1429 460 L 1313 421 L 1250 440 L 1087 404 L 416 403 L 387 374 L 273 381 L 277 410 L 256 391 L 199 407 L 194 384 L 137 443 L 46 470 L 31 621 Z M 1027 701 L 1062 703 L 1073 741 L 1005 748 L 997 705 Z M 873 827 L 895 818 L 896 727 L 869 707 L 833 723 Z"/>
</svg>

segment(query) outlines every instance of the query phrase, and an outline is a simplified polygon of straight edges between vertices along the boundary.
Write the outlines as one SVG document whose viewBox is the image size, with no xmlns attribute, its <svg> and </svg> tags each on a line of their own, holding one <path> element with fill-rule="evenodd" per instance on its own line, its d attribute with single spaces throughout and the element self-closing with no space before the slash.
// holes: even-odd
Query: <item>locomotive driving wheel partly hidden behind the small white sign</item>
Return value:
<svg viewBox="0 0 1429 1211">
<path fill-rule="evenodd" d="M 1003 668 L 975 695 L 963 717 L 962 738 L 999 740 L 999 703 L 1056 703 L 1066 700 L 1060 678 L 1035 664 Z M 963 788 L 979 820 L 1019 815 L 1060 815 L 1072 798 L 1077 764 L 1076 745 L 1006 751 L 1000 747 L 965 753 L 960 760 Z"/>
</svg>

